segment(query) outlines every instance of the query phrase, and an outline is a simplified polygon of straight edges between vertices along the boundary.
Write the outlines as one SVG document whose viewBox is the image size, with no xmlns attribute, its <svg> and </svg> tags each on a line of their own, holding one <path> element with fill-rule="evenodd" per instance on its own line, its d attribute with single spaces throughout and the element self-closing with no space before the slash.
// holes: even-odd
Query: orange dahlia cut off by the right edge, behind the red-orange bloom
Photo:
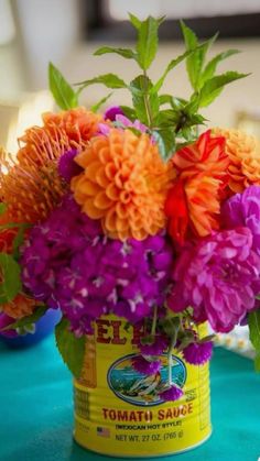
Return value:
<svg viewBox="0 0 260 461">
<path fill-rule="evenodd" d="M 260 185 L 260 144 L 254 136 L 239 130 L 215 128 L 213 134 L 225 136 L 230 164 L 229 188 L 242 193 L 250 185 Z"/>
</svg>

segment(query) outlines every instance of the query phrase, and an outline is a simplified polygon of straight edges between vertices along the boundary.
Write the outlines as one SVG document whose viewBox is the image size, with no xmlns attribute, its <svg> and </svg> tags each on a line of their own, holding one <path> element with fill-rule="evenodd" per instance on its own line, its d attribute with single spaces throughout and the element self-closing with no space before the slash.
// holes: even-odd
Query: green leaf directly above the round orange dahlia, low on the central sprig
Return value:
<svg viewBox="0 0 260 461">
<path fill-rule="evenodd" d="M 148 127 L 152 125 L 160 109 L 159 96 L 151 94 L 151 88 L 152 81 L 144 75 L 139 75 L 129 86 L 137 118 Z"/>
</svg>

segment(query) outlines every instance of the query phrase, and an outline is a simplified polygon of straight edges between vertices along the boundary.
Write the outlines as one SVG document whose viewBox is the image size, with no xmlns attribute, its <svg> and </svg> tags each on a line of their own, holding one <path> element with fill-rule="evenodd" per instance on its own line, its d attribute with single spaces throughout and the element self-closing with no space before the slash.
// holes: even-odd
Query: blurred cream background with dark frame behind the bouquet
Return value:
<svg viewBox="0 0 260 461">
<path fill-rule="evenodd" d="M 126 23 L 129 10 L 140 18 L 167 17 L 156 64 L 149 72 L 152 79 L 184 51 L 181 18 L 201 39 L 219 31 L 212 55 L 239 48 L 241 53 L 225 61 L 219 72 L 251 75 L 227 87 L 203 113 L 212 125 L 240 124 L 260 135 L 260 0 L 0 0 L 0 144 L 15 152 L 17 136 L 40 123 L 42 111 L 53 109 L 47 91 L 50 61 L 72 84 L 109 72 L 127 81 L 137 75 L 130 61 L 93 56 L 102 44 L 129 46 L 134 40 L 134 30 Z M 184 98 L 191 94 L 184 64 L 170 74 L 165 90 Z M 91 86 L 82 103 L 90 107 L 108 92 Z M 129 96 L 117 90 L 110 102 L 129 102 Z"/>
</svg>

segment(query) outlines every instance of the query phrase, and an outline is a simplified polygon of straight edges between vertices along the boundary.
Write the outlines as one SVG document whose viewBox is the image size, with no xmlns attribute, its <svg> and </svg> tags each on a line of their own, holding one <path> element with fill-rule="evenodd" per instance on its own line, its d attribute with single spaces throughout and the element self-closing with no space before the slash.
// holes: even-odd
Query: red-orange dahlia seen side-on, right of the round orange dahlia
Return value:
<svg viewBox="0 0 260 461">
<path fill-rule="evenodd" d="M 219 228 L 220 200 L 229 165 L 225 139 L 213 138 L 207 131 L 194 144 L 181 149 L 172 164 L 177 169 L 177 178 L 167 195 L 165 212 L 170 218 L 170 234 L 183 244 L 188 232 L 205 237 Z"/>
</svg>

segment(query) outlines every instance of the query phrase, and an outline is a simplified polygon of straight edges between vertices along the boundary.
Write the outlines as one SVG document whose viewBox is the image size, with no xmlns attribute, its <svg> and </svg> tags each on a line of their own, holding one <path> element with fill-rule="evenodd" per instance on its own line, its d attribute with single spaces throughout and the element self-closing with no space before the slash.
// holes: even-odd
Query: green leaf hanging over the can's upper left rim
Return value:
<svg viewBox="0 0 260 461">
<path fill-rule="evenodd" d="M 55 338 L 57 349 L 69 371 L 75 377 L 80 377 L 85 356 L 86 337 L 75 337 L 75 334 L 69 331 L 68 320 L 63 318 L 55 328 Z"/>
</svg>

